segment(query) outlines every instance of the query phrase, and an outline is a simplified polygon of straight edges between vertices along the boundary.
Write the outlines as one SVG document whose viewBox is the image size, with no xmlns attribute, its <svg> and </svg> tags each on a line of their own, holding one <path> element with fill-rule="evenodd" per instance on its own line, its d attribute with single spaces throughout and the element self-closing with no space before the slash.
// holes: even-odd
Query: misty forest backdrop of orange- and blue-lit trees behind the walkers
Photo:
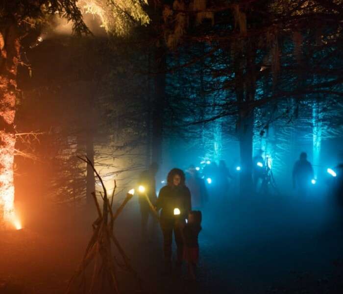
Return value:
<svg viewBox="0 0 343 294">
<path fill-rule="evenodd" d="M 152 161 L 161 177 L 200 158 L 237 161 L 242 187 L 260 148 L 280 178 L 303 150 L 337 162 L 325 144 L 342 137 L 341 1 L 147 4 L 124 36 L 57 34 L 53 21 L 24 30 L 16 131 L 42 134 L 18 136 L 32 156 L 16 157 L 17 199 L 28 185 L 58 203 L 91 199 L 97 183 L 76 154 L 125 191 Z"/>
</svg>

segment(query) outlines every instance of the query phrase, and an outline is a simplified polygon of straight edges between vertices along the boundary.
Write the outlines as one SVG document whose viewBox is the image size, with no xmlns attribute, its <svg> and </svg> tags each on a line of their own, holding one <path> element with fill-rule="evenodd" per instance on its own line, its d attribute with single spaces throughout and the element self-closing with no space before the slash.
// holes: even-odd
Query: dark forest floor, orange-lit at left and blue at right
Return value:
<svg viewBox="0 0 343 294">
<path fill-rule="evenodd" d="M 203 211 L 196 283 L 186 266 L 171 276 L 161 273 L 160 231 L 143 241 L 137 201 L 125 208 L 115 232 L 147 293 L 343 293 L 343 230 L 325 196 L 212 204 Z M 0 294 L 64 293 L 91 236 L 91 221 L 76 219 L 0 232 Z M 120 273 L 120 283 L 122 293 L 135 293 L 127 273 Z"/>
</svg>

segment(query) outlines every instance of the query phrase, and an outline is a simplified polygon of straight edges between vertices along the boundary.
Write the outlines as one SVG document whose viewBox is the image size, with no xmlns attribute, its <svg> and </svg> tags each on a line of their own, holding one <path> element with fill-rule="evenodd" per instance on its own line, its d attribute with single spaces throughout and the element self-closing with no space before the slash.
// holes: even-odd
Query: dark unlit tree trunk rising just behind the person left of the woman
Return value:
<svg viewBox="0 0 343 294">
<path fill-rule="evenodd" d="M 166 50 L 156 51 L 158 74 L 155 78 L 156 97 L 152 110 L 152 161 L 162 163 L 163 111 L 166 96 Z"/>
</svg>

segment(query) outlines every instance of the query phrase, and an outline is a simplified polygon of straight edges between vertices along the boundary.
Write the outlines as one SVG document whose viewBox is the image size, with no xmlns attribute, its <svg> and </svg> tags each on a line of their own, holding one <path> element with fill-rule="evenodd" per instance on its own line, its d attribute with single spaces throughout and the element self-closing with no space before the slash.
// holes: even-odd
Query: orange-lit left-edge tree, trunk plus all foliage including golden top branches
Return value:
<svg viewBox="0 0 343 294">
<path fill-rule="evenodd" d="M 107 32 L 124 35 L 136 23 L 149 23 L 144 4 L 147 0 L 0 2 L 0 220 L 10 221 L 17 228 L 20 226 L 14 211 L 13 163 L 17 69 L 19 64 L 24 64 L 20 60 L 22 37 L 46 24 L 48 15 L 67 19 L 78 35 L 88 34 L 90 30 L 83 22 L 82 12 L 98 15 Z"/>
</svg>

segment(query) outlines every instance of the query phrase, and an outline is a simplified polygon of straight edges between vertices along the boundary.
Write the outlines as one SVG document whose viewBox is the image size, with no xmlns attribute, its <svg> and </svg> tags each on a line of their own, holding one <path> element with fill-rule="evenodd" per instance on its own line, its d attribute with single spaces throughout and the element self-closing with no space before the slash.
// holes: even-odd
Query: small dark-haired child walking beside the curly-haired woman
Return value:
<svg viewBox="0 0 343 294">
<path fill-rule="evenodd" d="M 195 267 L 199 259 L 198 235 L 201 231 L 201 211 L 191 211 L 188 222 L 183 228 L 184 251 L 183 258 L 188 263 L 188 273 L 192 280 L 196 279 Z"/>
</svg>

